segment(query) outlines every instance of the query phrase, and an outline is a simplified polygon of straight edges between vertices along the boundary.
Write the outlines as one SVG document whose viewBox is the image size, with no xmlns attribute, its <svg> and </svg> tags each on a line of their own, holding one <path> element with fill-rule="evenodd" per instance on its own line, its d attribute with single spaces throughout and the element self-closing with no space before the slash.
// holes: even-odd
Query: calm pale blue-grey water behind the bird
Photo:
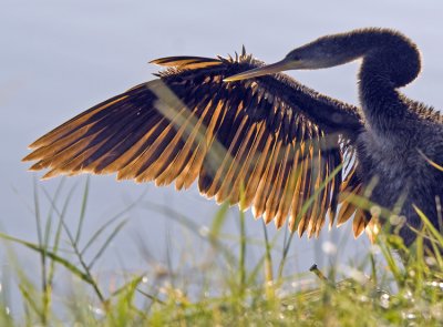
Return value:
<svg viewBox="0 0 443 327">
<path fill-rule="evenodd" d="M 132 85 L 152 79 L 156 68 L 146 62 L 165 55 L 215 55 L 233 53 L 241 44 L 256 57 L 271 62 L 289 50 L 322 34 L 361 27 L 390 27 L 416 41 L 423 52 L 421 78 L 404 91 L 436 108 L 443 108 L 443 20 L 441 1 L 23 1 L 3 0 L 0 12 L 0 215 L 1 228 L 35 241 L 32 204 L 33 174 L 20 159 L 37 136 L 74 114 Z M 425 2 L 425 4 L 423 4 Z M 357 103 L 357 63 L 327 71 L 295 72 L 307 85 L 338 99 Z M 37 174 L 35 177 L 41 176 Z M 65 190 L 84 183 L 83 176 L 65 181 Z M 50 193 L 60 178 L 38 182 Z M 147 190 L 146 190 L 147 188 Z M 91 178 L 86 234 L 123 210 L 143 192 L 145 198 L 167 205 L 207 225 L 217 205 L 198 195 L 196 187 L 177 193 L 173 187 L 116 183 L 113 176 Z M 65 194 L 65 193 L 64 193 Z M 41 202 L 44 196 L 41 194 Z M 43 208 L 48 205 L 44 205 Z M 78 208 L 69 215 L 75 225 Z M 151 254 L 165 258 L 165 235 L 179 246 L 184 237 L 177 223 L 156 211 L 137 207 L 125 214 L 128 223 L 101 262 L 101 269 L 147 269 L 138 239 Z M 248 235 L 262 237 L 261 224 L 251 214 Z M 228 232 L 236 233 L 233 211 Z M 274 233 L 274 226 L 269 226 Z M 346 237 L 349 226 L 320 241 L 292 243 L 295 270 L 306 272 L 324 262 L 320 247 L 324 239 Z M 351 239 L 350 239 L 351 241 Z M 173 242 L 174 243 L 174 242 Z M 360 238 L 340 254 L 347 263 L 368 242 Z M 235 251 L 235 248 L 233 248 Z M 25 259 L 34 257 L 20 252 Z"/>
</svg>

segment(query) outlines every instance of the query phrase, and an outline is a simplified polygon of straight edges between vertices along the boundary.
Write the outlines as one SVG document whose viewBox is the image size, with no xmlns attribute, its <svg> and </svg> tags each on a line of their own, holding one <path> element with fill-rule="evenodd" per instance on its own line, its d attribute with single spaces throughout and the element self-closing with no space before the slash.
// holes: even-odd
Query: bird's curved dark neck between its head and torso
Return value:
<svg viewBox="0 0 443 327">
<path fill-rule="evenodd" d="M 420 53 L 411 41 L 391 31 L 362 34 L 357 44 L 361 45 L 353 51 L 360 51 L 363 59 L 359 95 L 365 121 L 378 133 L 393 132 L 408 114 L 396 89 L 419 74 Z"/>
</svg>

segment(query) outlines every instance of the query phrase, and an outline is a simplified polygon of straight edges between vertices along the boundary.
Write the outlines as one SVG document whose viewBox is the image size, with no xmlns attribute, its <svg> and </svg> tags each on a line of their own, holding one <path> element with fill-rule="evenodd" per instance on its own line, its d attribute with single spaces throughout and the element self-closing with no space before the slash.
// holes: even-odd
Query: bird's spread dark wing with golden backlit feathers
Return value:
<svg viewBox="0 0 443 327">
<path fill-rule="evenodd" d="M 198 180 L 207 197 L 251 206 L 278 227 L 289 217 L 300 235 L 318 235 L 327 212 L 332 224 L 346 144 L 297 100 L 307 89 L 282 74 L 223 82 L 261 65 L 245 53 L 154 63 L 169 68 L 32 143 L 23 159 L 37 161 L 31 170 L 116 173 L 178 190 Z"/>
</svg>

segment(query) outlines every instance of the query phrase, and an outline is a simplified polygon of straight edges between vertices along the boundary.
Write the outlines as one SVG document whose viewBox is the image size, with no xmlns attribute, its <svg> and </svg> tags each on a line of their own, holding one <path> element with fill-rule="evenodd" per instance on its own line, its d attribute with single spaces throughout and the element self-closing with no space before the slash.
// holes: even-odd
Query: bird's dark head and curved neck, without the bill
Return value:
<svg viewBox="0 0 443 327">
<path fill-rule="evenodd" d="M 322 37 L 288 53 L 295 69 L 323 69 L 362 59 L 359 73 L 360 102 L 365 122 L 377 134 L 402 125 L 408 105 L 398 89 L 420 72 L 415 44 L 388 29 L 362 29 Z"/>
</svg>

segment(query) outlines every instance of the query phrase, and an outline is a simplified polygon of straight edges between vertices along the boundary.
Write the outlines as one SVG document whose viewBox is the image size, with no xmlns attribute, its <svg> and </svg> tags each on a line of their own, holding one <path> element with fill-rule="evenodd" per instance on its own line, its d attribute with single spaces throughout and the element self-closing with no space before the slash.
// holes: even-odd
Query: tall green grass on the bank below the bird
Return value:
<svg viewBox="0 0 443 327">
<path fill-rule="evenodd" d="M 34 186 L 33 215 L 37 243 L 0 234 L 12 268 L 3 272 L 0 297 L 0 326 L 74 325 L 76 326 L 441 326 L 443 324 L 443 258 L 439 251 L 431 256 L 424 244 L 443 247 L 443 236 L 419 211 L 424 222 L 418 242 L 406 248 L 396 235 L 382 233 L 361 260 L 343 268 L 312 268 L 303 274 L 285 275 L 291 235 L 286 229 L 284 251 L 277 253 L 277 238 L 264 227 L 261 239 L 248 237 L 245 214 L 238 213 L 238 235 L 227 235 L 224 225 L 228 206 L 222 205 L 210 226 L 202 231 L 190 218 L 171 207 L 141 198 L 111 217 L 87 238 L 87 201 L 90 182 L 82 188 L 81 203 L 72 203 L 79 187 L 61 198 L 61 182 L 53 194 Z M 42 212 L 48 202 L 48 212 Z M 200 238 L 210 254 L 207 263 L 179 270 L 171 263 L 146 273 L 125 274 L 111 292 L 97 275 L 100 258 L 125 226 L 124 214 L 134 205 L 166 214 L 193 236 Z M 68 226 L 72 207 L 79 211 L 78 224 Z M 80 210 L 79 210 L 80 208 Z M 226 241 L 234 242 L 233 247 Z M 29 272 L 14 254 L 12 244 L 23 246 L 39 258 L 39 273 Z M 253 264 L 251 247 L 260 249 Z M 193 248 L 174 251 L 193 253 Z M 233 248 L 235 248 L 233 251 Z M 404 265 L 395 258 L 403 252 Z M 381 252 L 383 260 L 375 256 Z M 278 255 L 276 255 L 276 253 Z M 369 275 L 365 272 L 369 270 Z M 277 272 L 277 274 L 274 274 Z M 316 274 L 318 277 L 316 277 Z M 343 275 L 350 276 L 347 279 Z M 12 276 L 12 277 L 8 277 Z M 38 276 L 38 277 L 37 277 Z M 309 289 L 298 286 L 307 276 L 316 278 Z M 72 285 L 62 294 L 54 280 Z M 22 310 L 11 311 L 13 300 L 8 288 L 19 289 Z"/>
</svg>

